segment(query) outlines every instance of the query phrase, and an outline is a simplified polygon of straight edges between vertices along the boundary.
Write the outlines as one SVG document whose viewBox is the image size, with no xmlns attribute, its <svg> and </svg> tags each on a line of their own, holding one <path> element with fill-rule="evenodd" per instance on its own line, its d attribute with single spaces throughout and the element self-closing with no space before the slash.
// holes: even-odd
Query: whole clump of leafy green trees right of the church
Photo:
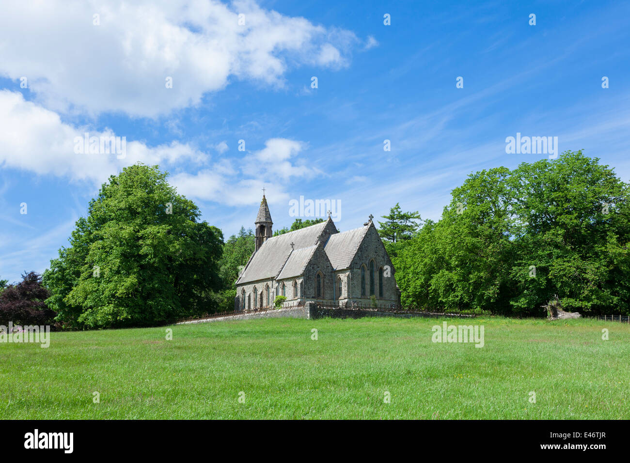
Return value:
<svg viewBox="0 0 630 463">
<path fill-rule="evenodd" d="M 542 315 L 630 312 L 628 186 L 581 151 L 471 174 L 394 256 L 403 302 Z"/>
</svg>

